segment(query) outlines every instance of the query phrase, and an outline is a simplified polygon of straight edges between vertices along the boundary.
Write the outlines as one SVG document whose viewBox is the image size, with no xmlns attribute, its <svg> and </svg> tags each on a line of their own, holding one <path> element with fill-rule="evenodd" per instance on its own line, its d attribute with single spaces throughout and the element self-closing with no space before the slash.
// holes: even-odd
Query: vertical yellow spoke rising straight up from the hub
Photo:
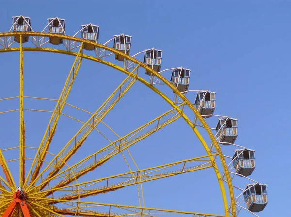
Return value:
<svg viewBox="0 0 291 217">
<path fill-rule="evenodd" d="M 25 182 L 25 126 L 23 120 L 23 45 L 22 36 L 20 36 L 20 124 L 19 124 L 19 186 Z"/>
</svg>

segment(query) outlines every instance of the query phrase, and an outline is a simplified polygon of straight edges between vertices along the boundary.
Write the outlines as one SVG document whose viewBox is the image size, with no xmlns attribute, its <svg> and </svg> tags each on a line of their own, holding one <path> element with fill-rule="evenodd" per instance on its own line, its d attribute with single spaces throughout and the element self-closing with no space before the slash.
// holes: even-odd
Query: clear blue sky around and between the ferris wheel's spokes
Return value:
<svg viewBox="0 0 291 217">
<path fill-rule="evenodd" d="M 269 204 L 259 216 L 290 213 L 287 203 L 291 193 L 288 182 L 291 171 L 287 167 L 290 115 L 284 113 L 291 108 L 288 100 L 291 79 L 291 1 L 16 0 L 13 3 L 1 2 L 1 8 L 0 32 L 9 31 L 11 17 L 20 14 L 31 17 L 34 31 L 41 31 L 47 18 L 63 18 L 68 35 L 77 32 L 81 24 L 92 22 L 100 26 L 100 43 L 106 42 L 114 34 L 129 34 L 132 35 L 131 55 L 155 47 L 163 50 L 162 69 L 178 66 L 191 69 L 190 89 L 215 91 L 215 113 L 238 118 L 239 136 L 236 143 L 256 150 L 257 167 L 251 178 L 268 184 L 269 193 Z M 63 55 L 25 53 L 25 95 L 58 98 L 73 60 L 73 57 Z M 19 54 L 0 54 L 0 62 L 0 98 L 18 95 Z M 68 102 L 89 111 L 97 109 L 125 78 L 121 73 L 95 62 L 84 61 L 80 70 L 80 77 L 74 84 Z M 165 76 L 170 78 L 169 74 Z M 148 79 L 146 75 L 143 78 Z M 164 87 L 161 89 L 166 91 Z M 194 100 L 194 95 L 189 94 L 189 97 Z M 0 111 L 16 109 L 17 106 L 17 100 L 0 102 Z M 51 110 L 54 105 L 27 100 L 25 107 Z M 153 92 L 136 84 L 105 121 L 120 135 L 124 135 L 169 108 Z M 73 112 L 70 109 L 67 111 Z M 49 115 L 25 112 L 27 143 L 30 146 L 39 143 Z M 87 116 L 80 114 L 80 117 L 86 120 Z M 215 118 L 210 120 L 210 126 L 214 127 L 216 121 Z M 60 122 L 52 143 L 52 149 L 55 150 L 81 126 L 65 118 L 61 118 Z M 17 146 L 18 113 L 0 115 L 0 123 L 0 148 Z M 76 159 L 88 155 L 88 149 L 97 150 L 93 145 L 99 139 L 101 137 L 97 133 L 92 136 L 88 146 L 82 147 Z M 107 144 L 106 140 L 102 141 L 104 145 Z M 231 147 L 224 150 L 229 155 L 233 153 Z M 131 151 L 140 168 L 205 154 L 193 132 L 182 120 L 132 147 Z M 12 155 L 18 153 L 7 155 L 12 159 Z M 14 165 L 11 167 L 17 180 L 17 165 L 11 165 Z M 121 156 L 117 156 L 88 177 L 126 171 L 126 164 Z M 246 185 L 246 181 L 238 178 L 236 183 L 241 188 Z M 221 196 L 213 170 L 145 184 L 144 191 L 148 207 L 209 213 L 218 209 L 222 212 Z M 136 192 L 136 186 L 131 186 L 109 195 L 97 196 L 96 201 L 138 205 Z M 246 212 L 241 215 L 248 216 Z"/>
</svg>

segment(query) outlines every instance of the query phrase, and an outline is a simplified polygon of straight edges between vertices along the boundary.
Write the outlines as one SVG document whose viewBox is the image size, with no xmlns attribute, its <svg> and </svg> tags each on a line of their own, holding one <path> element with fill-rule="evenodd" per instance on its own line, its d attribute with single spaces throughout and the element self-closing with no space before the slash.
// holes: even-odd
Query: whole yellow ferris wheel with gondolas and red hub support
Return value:
<svg viewBox="0 0 291 217">
<path fill-rule="evenodd" d="M 74 36 L 66 35 L 65 20 L 58 17 L 49 18 L 47 26 L 41 32 L 32 30 L 31 19 L 25 16 L 12 17 L 13 25 L 9 32 L 0 33 L 1 55 L 7 52 L 20 53 L 20 85 L 18 96 L 7 96 L 0 99 L 19 100 L 19 109 L 0 111 L 1 115 L 19 111 L 19 145 L 16 147 L 0 147 L 0 214 L 2 217 L 64 217 L 64 216 L 162 216 L 187 215 L 194 217 L 236 217 L 249 213 L 258 217 L 258 212 L 267 205 L 267 186 L 249 176 L 255 169 L 255 150 L 235 143 L 238 136 L 238 120 L 224 115 L 214 114 L 216 108 L 216 93 L 209 90 L 189 89 L 191 70 L 185 67 L 161 69 L 162 50 L 145 49 L 135 55 L 130 53 L 132 37 L 126 34 L 116 34 L 113 38 L 99 44 L 99 26 L 93 24 L 81 25 L 81 30 Z M 24 44 L 25 43 L 25 44 Z M 24 47 L 23 45 L 26 45 Z M 56 49 L 55 47 L 58 47 Z M 63 48 L 63 49 L 62 49 Z M 24 95 L 24 51 L 50 52 L 74 56 L 75 60 L 63 85 L 59 98 L 49 99 Z M 88 54 L 87 54 L 88 53 Z M 131 55 L 131 56 L 130 56 Z M 104 93 L 107 99 L 94 112 L 86 111 L 67 101 L 69 93 L 78 79 L 81 62 L 86 59 L 101 63 L 126 75 L 126 78 L 116 86 L 113 93 Z M 135 83 L 141 83 L 151 93 L 159 96 L 171 109 L 153 117 L 147 123 L 125 135 L 119 136 L 105 123 L 105 117 L 120 102 L 126 93 L 130 92 Z M 165 92 L 165 89 L 169 90 Z M 194 94 L 194 97 L 192 95 Z M 186 97 L 186 95 L 188 97 Z M 49 100 L 54 102 L 52 111 L 26 109 L 26 99 Z M 79 109 L 89 115 L 85 121 L 66 115 L 65 106 Z M 24 111 L 49 112 L 50 119 L 43 132 L 40 145 L 26 145 Z M 51 142 L 58 131 L 58 121 L 66 116 L 79 121 L 81 127 L 62 145 L 58 153 L 53 153 Z M 218 118 L 213 126 L 209 121 Z M 198 138 L 205 150 L 205 155 L 195 156 L 175 162 L 167 162 L 152 167 L 130 168 L 130 171 L 120 171 L 111 176 L 93 179 L 86 174 L 99 167 L 104 167 L 115 155 L 121 155 L 128 163 L 127 153 L 135 163 L 129 148 L 156 134 L 161 129 L 178 119 L 184 120 L 193 134 Z M 118 136 L 117 140 L 108 140 L 107 144 L 87 155 L 77 157 L 81 147 L 86 146 L 87 138 L 98 126 L 104 124 Z M 67 126 L 70 127 L 70 126 Z M 204 133 L 201 133 L 201 132 Z M 207 138 L 202 135 L 207 135 Z M 102 134 L 105 137 L 105 135 Z M 7 160 L 5 153 L 19 150 L 19 156 Z M 228 156 L 224 150 L 232 153 Z M 28 153 L 34 153 L 28 157 Z M 77 157 L 77 158 L 76 158 Z M 78 159 L 72 162 L 72 159 Z M 14 181 L 10 162 L 19 161 L 19 184 Z M 26 165 L 31 165 L 26 167 Z M 211 169 L 212 168 L 212 169 Z M 214 172 L 217 187 L 220 190 L 223 207 L 221 211 L 209 213 L 195 211 L 171 210 L 170 207 L 146 207 L 143 199 L 143 183 L 162 180 L 167 177 L 183 176 L 200 170 Z M 244 181 L 242 181 L 244 180 Z M 238 186 L 236 183 L 244 186 Z M 251 184 L 250 184 L 251 183 Z M 129 186 L 137 186 L 139 206 L 131 204 L 102 203 L 92 200 L 94 196 Z"/>
</svg>

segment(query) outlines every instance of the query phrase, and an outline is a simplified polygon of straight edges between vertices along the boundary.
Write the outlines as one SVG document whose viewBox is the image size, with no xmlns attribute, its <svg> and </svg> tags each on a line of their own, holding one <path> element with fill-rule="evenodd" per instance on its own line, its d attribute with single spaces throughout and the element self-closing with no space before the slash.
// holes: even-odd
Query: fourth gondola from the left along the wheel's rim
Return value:
<svg viewBox="0 0 291 217">
<path fill-rule="evenodd" d="M 131 38 L 132 38 L 131 36 L 125 34 L 114 35 L 113 48 L 129 55 L 131 47 Z M 115 59 L 119 61 L 124 61 L 124 58 L 118 54 L 115 54 Z"/>
</svg>

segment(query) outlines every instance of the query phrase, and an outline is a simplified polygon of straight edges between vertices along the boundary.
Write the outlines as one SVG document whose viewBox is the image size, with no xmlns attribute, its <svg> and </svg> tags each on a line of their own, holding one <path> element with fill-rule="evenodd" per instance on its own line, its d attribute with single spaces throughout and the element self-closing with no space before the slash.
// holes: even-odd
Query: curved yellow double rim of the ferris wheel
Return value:
<svg viewBox="0 0 291 217">
<path fill-rule="evenodd" d="M 130 57 L 128 55 L 126 55 L 125 53 L 118 51 L 112 47 L 107 47 L 105 45 L 101 45 L 98 44 L 96 42 L 93 41 L 89 41 L 89 40 L 85 40 L 85 39 L 81 39 L 81 38 L 76 38 L 76 37 L 72 37 L 72 36 L 67 36 L 67 35 L 61 35 L 61 34 L 51 34 L 51 33 L 42 33 L 42 32 L 7 32 L 7 33 L 0 33 L 0 37 L 9 37 L 9 36 L 17 36 L 17 35 L 27 35 L 27 36 L 40 36 L 40 37 L 55 37 L 55 38 L 62 38 L 65 40 L 69 40 L 69 41 L 76 41 L 76 42 L 84 42 L 85 44 L 90 44 L 93 45 L 95 47 L 101 48 L 101 49 L 105 49 L 108 50 L 110 52 L 113 52 L 114 54 L 118 54 L 122 57 L 124 57 L 125 59 L 134 62 L 135 64 L 139 64 L 142 68 L 146 69 L 147 71 L 149 71 L 150 73 L 152 73 L 154 76 L 156 76 L 157 78 L 159 78 L 163 83 L 165 83 L 169 88 L 171 88 L 173 90 L 174 93 L 176 93 L 184 102 L 186 102 L 186 104 L 188 105 L 188 107 L 194 112 L 195 116 L 199 119 L 200 123 L 203 125 L 203 127 L 206 129 L 219 157 L 222 163 L 222 166 L 224 168 L 225 171 L 225 175 L 226 175 L 226 180 L 227 180 L 227 185 L 228 185 L 228 190 L 229 190 L 229 196 L 230 196 L 230 202 L 231 202 L 231 212 L 232 212 L 232 216 L 236 217 L 236 208 L 235 208 L 235 198 L 234 198 L 234 193 L 233 193 L 233 188 L 232 188 L 232 181 L 231 181 L 231 177 L 227 168 L 227 164 L 224 158 L 224 155 L 220 149 L 220 146 L 218 145 L 217 141 L 215 140 L 215 137 L 213 135 L 213 133 L 210 130 L 210 127 L 206 124 L 205 120 L 202 118 L 202 116 L 199 114 L 199 112 L 194 108 L 194 106 L 192 105 L 192 103 L 185 97 L 185 95 L 183 95 L 181 92 L 178 91 L 178 89 L 176 87 L 174 87 L 166 78 L 163 78 L 159 73 L 157 73 L 156 71 L 154 71 L 153 69 L 151 69 L 150 67 L 148 67 L 146 64 L 136 60 L 133 57 Z M 0 52 L 7 52 L 7 51 L 18 51 L 19 48 L 12 48 L 12 49 L 2 49 L 0 50 Z M 60 51 L 57 49 L 49 49 L 49 48 L 26 48 L 25 51 L 49 51 L 49 52 L 55 52 L 55 53 L 63 53 L 63 54 L 69 54 L 69 55 L 76 55 L 75 53 L 72 52 L 68 52 L 68 51 Z M 129 71 L 123 69 L 122 67 L 119 67 L 111 62 L 107 62 L 104 60 L 100 60 L 97 58 L 94 58 L 92 56 L 85 56 L 85 59 L 89 59 L 89 60 L 93 60 L 96 62 L 100 62 L 102 64 L 108 65 L 110 67 L 113 67 L 119 71 L 122 71 L 126 74 L 129 75 Z M 152 85 L 150 85 L 146 80 L 144 80 L 143 78 L 138 77 L 137 80 L 139 80 L 140 82 L 142 82 L 143 84 L 145 84 L 147 87 L 149 87 L 150 89 L 152 89 L 153 91 L 155 91 L 156 93 L 158 93 L 165 101 L 167 101 L 171 106 L 175 107 L 175 104 L 167 97 L 165 96 L 161 91 L 159 91 L 157 88 L 153 87 Z M 198 137 L 198 139 L 201 141 L 206 153 L 208 155 L 210 155 L 210 151 L 209 151 L 209 147 L 207 146 L 206 142 L 204 141 L 203 137 L 200 135 L 200 133 L 198 132 L 198 130 L 195 128 L 194 124 L 189 120 L 189 118 L 183 113 L 183 118 L 184 120 L 190 125 L 190 127 L 194 130 L 194 133 L 196 134 L 196 136 Z M 213 157 L 210 160 L 213 160 Z M 228 216 L 228 207 L 227 207 L 227 199 L 226 199 L 226 192 L 224 189 L 224 185 L 223 185 L 223 181 L 221 179 L 221 175 L 220 172 L 218 170 L 217 165 L 214 165 L 214 170 L 218 179 L 218 183 L 221 189 L 221 193 L 222 193 L 222 197 L 223 197 L 223 202 L 224 202 L 224 209 L 225 209 L 225 214 L 226 216 Z"/>
</svg>

